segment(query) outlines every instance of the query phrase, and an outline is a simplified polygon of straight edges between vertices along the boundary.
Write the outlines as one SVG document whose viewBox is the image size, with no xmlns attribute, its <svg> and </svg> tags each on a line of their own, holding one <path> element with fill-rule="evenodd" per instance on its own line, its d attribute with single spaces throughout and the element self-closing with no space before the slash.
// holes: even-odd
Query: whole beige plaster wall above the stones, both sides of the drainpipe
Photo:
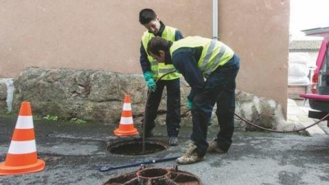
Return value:
<svg viewBox="0 0 329 185">
<path fill-rule="evenodd" d="M 26 67 L 140 73 L 143 8 L 184 36 L 212 36 L 210 0 L 11 0 L 0 6 L 0 77 Z M 241 57 L 238 88 L 286 106 L 289 1 L 219 0 L 219 35 Z"/>
</svg>

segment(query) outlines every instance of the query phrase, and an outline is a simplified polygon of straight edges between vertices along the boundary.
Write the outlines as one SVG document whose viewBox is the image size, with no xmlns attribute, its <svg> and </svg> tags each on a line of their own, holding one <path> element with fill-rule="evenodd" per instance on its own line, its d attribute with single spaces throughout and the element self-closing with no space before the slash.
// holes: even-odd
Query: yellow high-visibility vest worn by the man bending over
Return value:
<svg viewBox="0 0 329 185">
<path fill-rule="evenodd" d="M 223 42 L 217 39 L 203 38 L 199 36 L 188 36 L 175 41 L 170 48 L 170 54 L 179 48 L 202 47 L 202 53 L 197 66 L 204 77 L 209 77 L 211 72 L 227 63 L 234 55 L 234 52 Z"/>
</svg>

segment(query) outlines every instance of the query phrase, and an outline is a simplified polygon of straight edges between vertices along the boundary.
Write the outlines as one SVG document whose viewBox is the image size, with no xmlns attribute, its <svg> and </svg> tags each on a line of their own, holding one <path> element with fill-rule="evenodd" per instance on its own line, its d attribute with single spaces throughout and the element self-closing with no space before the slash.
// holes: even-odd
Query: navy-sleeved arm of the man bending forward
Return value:
<svg viewBox="0 0 329 185">
<path fill-rule="evenodd" d="M 191 86 L 191 92 L 194 96 L 202 92 L 204 87 L 204 80 L 201 71 L 197 67 L 197 62 L 190 52 L 191 49 L 179 49 L 175 51 L 172 57 L 172 62 L 175 68 L 183 74 L 187 83 Z M 190 100 L 193 97 L 189 96 Z"/>
</svg>

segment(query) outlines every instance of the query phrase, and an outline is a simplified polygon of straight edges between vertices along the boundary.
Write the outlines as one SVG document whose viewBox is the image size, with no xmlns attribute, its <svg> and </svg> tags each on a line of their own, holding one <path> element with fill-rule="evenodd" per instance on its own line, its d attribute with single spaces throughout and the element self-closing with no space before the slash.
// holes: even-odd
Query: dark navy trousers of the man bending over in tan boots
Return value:
<svg viewBox="0 0 329 185">
<path fill-rule="evenodd" d="M 215 103 L 220 131 L 217 143 L 221 150 L 228 151 L 232 144 L 235 109 L 235 78 L 240 68 L 240 59 L 234 55 L 224 66 L 219 66 L 205 81 L 204 90 L 193 98 L 191 140 L 197 146 L 197 154 L 204 156 L 207 148 L 208 123 Z"/>
</svg>

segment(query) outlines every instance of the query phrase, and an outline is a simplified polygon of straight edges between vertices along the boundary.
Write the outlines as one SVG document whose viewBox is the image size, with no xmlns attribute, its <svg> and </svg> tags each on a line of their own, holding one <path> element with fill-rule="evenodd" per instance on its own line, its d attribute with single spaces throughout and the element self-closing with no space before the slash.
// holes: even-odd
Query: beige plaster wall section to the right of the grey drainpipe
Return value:
<svg viewBox="0 0 329 185">
<path fill-rule="evenodd" d="M 234 3 L 233 3 L 234 2 Z M 289 0 L 219 1 L 219 36 L 241 58 L 237 86 L 286 112 Z"/>
</svg>

